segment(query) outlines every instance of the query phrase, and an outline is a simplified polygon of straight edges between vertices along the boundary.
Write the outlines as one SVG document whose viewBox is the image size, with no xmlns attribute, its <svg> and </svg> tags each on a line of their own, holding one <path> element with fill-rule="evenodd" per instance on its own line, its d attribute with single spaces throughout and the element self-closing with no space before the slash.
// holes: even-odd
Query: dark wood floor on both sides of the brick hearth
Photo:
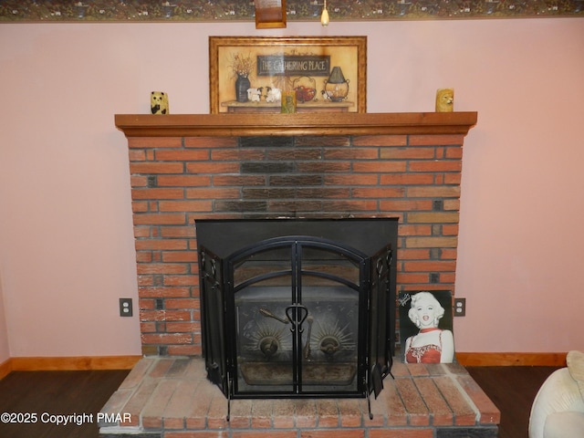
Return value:
<svg viewBox="0 0 584 438">
<path fill-rule="evenodd" d="M 556 368 L 469 367 L 467 370 L 501 411 L 499 438 L 527 438 L 531 403 L 539 386 Z M 0 437 L 97 438 L 97 412 L 118 389 L 128 372 L 12 372 L 0 381 L 0 414 L 36 413 L 36 423 L 0 422 Z M 53 418 L 50 415 L 72 413 L 93 414 L 93 422 L 67 426 L 44 422 Z M 29 420 L 32 418 L 29 417 Z"/>
</svg>

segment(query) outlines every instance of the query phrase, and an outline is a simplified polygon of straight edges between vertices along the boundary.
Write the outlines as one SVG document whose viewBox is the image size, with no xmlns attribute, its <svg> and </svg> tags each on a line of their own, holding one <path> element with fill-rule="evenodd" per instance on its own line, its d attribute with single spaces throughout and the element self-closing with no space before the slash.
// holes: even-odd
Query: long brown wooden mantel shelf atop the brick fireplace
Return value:
<svg viewBox="0 0 584 438">
<path fill-rule="evenodd" d="M 117 114 L 126 137 L 463 134 L 476 112 Z"/>
</svg>

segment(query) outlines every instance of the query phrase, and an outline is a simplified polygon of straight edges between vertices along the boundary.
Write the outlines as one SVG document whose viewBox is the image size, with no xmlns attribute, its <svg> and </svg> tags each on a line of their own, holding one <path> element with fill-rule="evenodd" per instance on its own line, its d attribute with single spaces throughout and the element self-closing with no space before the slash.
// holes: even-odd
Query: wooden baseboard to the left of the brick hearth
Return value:
<svg viewBox="0 0 584 438">
<path fill-rule="evenodd" d="M 131 370 L 141 356 L 89 356 L 70 358 L 10 358 L 10 371 Z M 0 370 L 2 370 L 0 368 Z M 7 374 L 7 373 L 6 373 Z M 1 375 L 1 374 L 0 374 Z"/>
</svg>

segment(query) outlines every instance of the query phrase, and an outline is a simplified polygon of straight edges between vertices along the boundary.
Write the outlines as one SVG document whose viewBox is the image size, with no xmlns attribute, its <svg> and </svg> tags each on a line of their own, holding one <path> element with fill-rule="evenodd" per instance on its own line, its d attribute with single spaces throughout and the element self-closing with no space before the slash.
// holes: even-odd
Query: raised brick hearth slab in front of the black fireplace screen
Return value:
<svg viewBox="0 0 584 438">
<path fill-rule="evenodd" d="M 145 358 L 101 412 L 102 438 L 495 438 L 500 413 L 457 364 L 393 366 L 370 420 L 363 399 L 227 401 L 196 358 Z M 130 415 L 128 415 L 130 414 Z"/>
</svg>

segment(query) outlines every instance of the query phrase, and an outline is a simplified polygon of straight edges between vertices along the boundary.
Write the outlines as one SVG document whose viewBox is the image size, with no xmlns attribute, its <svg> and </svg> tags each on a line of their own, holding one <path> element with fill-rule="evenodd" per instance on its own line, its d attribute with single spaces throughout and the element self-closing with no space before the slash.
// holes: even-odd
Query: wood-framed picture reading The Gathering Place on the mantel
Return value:
<svg viewBox="0 0 584 438">
<path fill-rule="evenodd" d="M 209 37 L 211 113 L 366 112 L 367 36 Z"/>
</svg>

